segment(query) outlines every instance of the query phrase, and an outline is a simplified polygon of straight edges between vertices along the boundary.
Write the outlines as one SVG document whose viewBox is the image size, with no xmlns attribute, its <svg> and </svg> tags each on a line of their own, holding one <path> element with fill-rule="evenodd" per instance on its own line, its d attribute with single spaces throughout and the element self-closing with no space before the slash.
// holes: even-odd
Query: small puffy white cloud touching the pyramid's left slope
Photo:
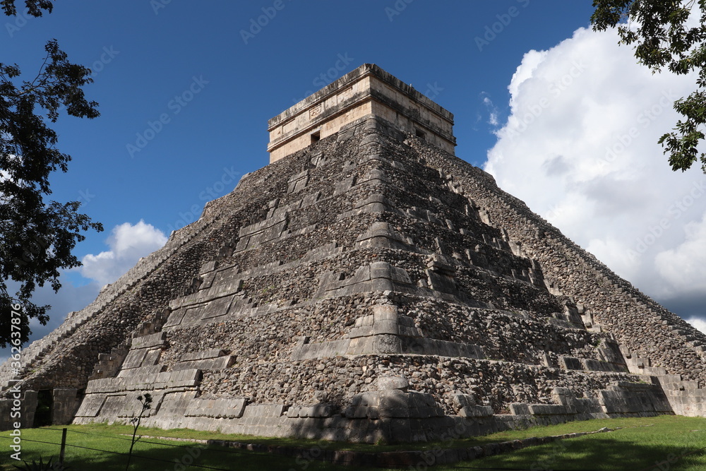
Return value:
<svg viewBox="0 0 706 471">
<path fill-rule="evenodd" d="M 124 222 L 113 228 L 107 239 L 110 250 L 83 257 L 80 273 L 102 285 L 112 283 L 137 261 L 167 243 L 162 231 L 140 220 L 136 225 Z"/>
</svg>

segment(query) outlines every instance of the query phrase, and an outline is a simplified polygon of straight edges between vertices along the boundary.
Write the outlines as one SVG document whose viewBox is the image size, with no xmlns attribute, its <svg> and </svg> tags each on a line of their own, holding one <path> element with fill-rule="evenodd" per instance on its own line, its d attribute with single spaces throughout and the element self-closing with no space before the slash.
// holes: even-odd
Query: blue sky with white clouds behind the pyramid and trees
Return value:
<svg viewBox="0 0 706 471">
<path fill-rule="evenodd" d="M 367 62 L 453 112 L 458 156 L 677 314 L 706 317 L 703 175 L 673 174 L 656 143 L 676 122 L 665 100 L 693 78 L 652 76 L 615 32 L 582 29 L 590 3 L 71 1 L 2 17 L 1 62 L 29 77 L 56 38 L 94 70 L 100 103 L 97 119 L 56 124 L 73 161 L 52 198 L 83 201 L 106 230 L 37 302 L 54 305 L 51 326 L 88 304 L 267 165 L 269 118 Z"/>
</svg>

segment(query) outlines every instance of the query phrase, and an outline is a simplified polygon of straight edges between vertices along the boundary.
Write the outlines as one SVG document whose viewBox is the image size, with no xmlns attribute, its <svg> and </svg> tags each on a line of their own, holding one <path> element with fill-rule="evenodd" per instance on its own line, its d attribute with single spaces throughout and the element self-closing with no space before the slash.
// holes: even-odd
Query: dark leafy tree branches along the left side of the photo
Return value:
<svg viewBox="0 0 706 471">
<path fill-rule="evenodd" d="M 52 2 L 28 0 L 25 4 L 41 16 Z M 2 1 L 6 14 L 15 13 L 14 1 Z M 32 9 L 33 8 L 33 9 Z M 20 81 L 16 64 L 0 64 L 0 346 L 11 339 L 28 340 L 29 321 L 48 320 L 50 306 L 30 301 L 37 286 L 49 282 L 59 290 L 59 269 L 80 266 L 71 254 L 88 229 L 102 231 L 100 223 L 78 213 L 80 203 L 44 201 L 52 193 L 49 174 L 66 172 L 71 156 L 56 149 L 56 132 L 47 126 L 62 108 L 73 117 L 99 116 L 97 103 L 88 101 L 83 85 L 92 82 L 90 68 L 71 64 L 56 40 L 44 47 L 46 56 L 31 81 Z M 20 284 L 11 295 L 6 282 Z M 11 325 L 12 307 L 20 304 L 20 324 Z M 17 316 L 15 316 L 17 318 Z M 11 333 L 19 332 L 19 337 Z M 13 344 L 15 345 L 15 344 Z"/>
</svg>

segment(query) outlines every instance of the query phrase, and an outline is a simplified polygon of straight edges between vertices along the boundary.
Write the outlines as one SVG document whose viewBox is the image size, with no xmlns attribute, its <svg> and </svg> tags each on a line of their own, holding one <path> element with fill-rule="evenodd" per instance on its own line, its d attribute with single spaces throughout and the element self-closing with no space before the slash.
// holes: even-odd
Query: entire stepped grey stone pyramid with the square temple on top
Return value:
<svg viewBox="0 0 706 471">
<path fill-rule="evenodd" d="M 25 427 L 150 393 L 145 426 L 365 443 L 706 415 L 706 336 L 455 156 L 412 86 L 363 64 L 268 130 L 270 165 L 0 367 L 1 427 L 14 391 Z"/>
</svg>

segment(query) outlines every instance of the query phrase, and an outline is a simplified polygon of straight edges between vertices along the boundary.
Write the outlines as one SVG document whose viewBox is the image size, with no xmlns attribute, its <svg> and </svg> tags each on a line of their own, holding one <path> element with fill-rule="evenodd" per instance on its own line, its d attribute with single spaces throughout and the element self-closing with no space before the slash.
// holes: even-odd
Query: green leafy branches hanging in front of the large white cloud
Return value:
<svg viewBox="0 0 706 471">
<path fill-rule="evenodd" d="M 697 7 L 698 5 L 698 7 Z M 680 75 L 698 72 L 696 90 L 674 102 L 684 119 L 659 138 L 671 168 L 684 171 L 700 160 L 706 173 L 706 0 L 594 0 L 594 30 L 618 26 L 623 44 L 635 44 L 635 57 L 654 72 L 667 68 Z M 698 23 L 689 17 L 700 13 Z"/>
</svg>

